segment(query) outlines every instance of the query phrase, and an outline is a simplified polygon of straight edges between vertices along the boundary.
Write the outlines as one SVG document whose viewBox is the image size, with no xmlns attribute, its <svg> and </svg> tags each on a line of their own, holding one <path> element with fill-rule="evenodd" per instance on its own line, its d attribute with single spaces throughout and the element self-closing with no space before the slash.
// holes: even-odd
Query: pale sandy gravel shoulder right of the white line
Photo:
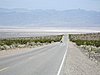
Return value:
<svg viewBox="0 0 100 75">
<path fill-rule="evenodd" d="M 91 61 L 69 42 L 63 75 L 100 75 L 100 64 Z"/>
</svg>

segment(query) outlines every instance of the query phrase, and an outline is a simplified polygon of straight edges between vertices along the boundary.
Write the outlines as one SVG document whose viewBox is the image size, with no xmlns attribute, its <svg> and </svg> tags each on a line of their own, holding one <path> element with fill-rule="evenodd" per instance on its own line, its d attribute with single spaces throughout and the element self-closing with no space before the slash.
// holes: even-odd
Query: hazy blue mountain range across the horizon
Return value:
<svg viewBox="0 0 100 75">
<path fill-rule="evenodd" d="M 0 26 L 100 26 L 100 12 L 0 8 Z"/>
</svg>

